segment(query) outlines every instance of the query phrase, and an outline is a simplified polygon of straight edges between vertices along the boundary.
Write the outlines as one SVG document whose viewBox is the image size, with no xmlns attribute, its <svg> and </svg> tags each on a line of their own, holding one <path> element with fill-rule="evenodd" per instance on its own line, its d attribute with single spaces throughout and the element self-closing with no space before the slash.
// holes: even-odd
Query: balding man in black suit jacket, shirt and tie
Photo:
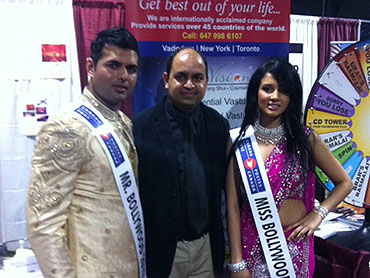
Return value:
<svg viewBox="0 0 370 278">
<path fill-rule="evenodd" d="M 133 119 L 148 277 L 215 277 L 229 125 L 201 103 L 208 74 L 199 52 L 172 53 L 162 77 L 168 97 Z"/>
</svg>

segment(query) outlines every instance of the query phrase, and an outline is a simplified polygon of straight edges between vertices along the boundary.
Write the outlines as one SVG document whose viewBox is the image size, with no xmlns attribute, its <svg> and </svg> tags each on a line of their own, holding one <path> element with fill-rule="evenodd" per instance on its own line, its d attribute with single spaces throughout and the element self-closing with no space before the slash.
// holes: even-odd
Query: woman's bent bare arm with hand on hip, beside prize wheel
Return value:
<svg viewBox="0 0 370 278">
<path fill-rule="evenodd" d="M 352 190 L 352 181 L 344 171 L 342 165 L 334 158 L 324 141 L 315 132 L 309 137 L 312 146 L 314 163 L 318 166 L 335 185 L 328 198 L 321 203 L 321 206 L 328 211 L 333 210 Z M 298 240 L 305 237 L 308 240 L 320 225 L 322 219 L 314 211 L 309 212 L 297 223 L 287 227 L 286 230 L 296 228 L 288 240 Z"/>
</svg>

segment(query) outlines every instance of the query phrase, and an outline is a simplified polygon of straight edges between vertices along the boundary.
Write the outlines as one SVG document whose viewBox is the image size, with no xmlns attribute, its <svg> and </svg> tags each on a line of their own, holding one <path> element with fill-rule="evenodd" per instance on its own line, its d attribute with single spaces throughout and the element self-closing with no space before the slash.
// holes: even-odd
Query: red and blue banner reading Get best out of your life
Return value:
<svg viewBox="0 0 370 278">
<path fill-rule="evenodd" d="M 126 3 L 125 25 L 139 42 L 141 69 L 133 113 L 165 94 L 166 58 L 192 47 L 208 60 L 203 102 L 238 126 L 250 76 L 270 57 L 288 57 L 290 2 L 283 0 L 137 0 Z"/>
</svg>

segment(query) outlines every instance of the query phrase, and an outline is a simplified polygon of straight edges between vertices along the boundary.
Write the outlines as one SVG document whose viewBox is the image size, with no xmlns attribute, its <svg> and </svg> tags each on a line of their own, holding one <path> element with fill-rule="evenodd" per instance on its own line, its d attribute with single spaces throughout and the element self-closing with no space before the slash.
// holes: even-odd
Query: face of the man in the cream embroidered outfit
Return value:
<svg viewBox="0 0 370 278">
<path fill-rule="evenodd" d="M 102 54 L 95 67 L 91 59 L 87 61 L 89 88 L 107 107 L 117 110 L 135 87 L 139 57 L 133 50 L 116 46 L 105 46 Z"/>
</svg>

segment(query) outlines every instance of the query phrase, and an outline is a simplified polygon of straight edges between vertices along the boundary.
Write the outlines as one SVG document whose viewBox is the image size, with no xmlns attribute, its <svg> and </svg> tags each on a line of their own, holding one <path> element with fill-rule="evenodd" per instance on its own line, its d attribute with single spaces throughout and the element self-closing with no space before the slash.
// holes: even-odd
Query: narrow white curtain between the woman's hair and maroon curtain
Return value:
<svg viewBox="0 0 370 278">
<path fill-rule="evenodd" d="M 317 22 L 319 17 L 290 15 L 290 43 L 303 44 L 303 106 L 317 78 Z"/>
</svg>

